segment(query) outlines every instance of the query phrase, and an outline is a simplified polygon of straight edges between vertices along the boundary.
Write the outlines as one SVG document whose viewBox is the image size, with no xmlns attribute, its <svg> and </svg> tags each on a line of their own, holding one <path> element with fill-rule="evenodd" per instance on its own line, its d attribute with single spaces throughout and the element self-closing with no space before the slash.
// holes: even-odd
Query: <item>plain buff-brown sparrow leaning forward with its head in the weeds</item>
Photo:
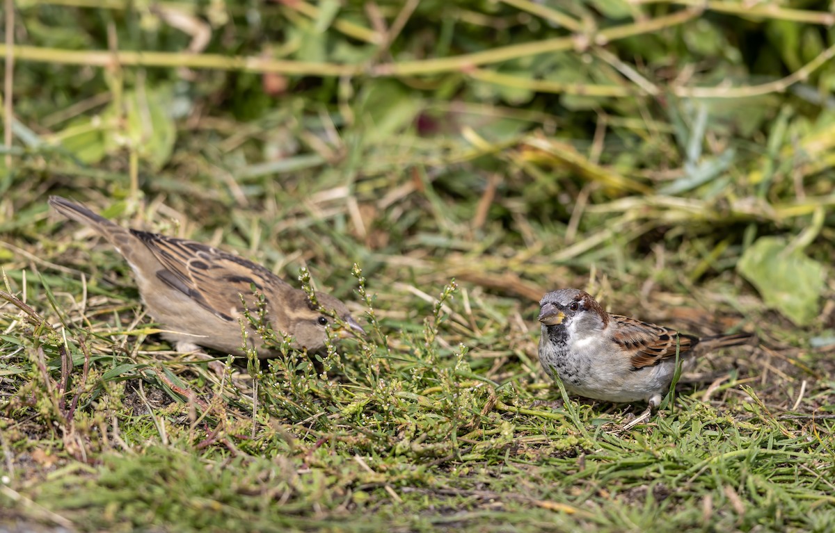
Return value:
<svg viewBox="0 0 835 533">
<path fill-rule="evenodd" d="M 351 330 L 365 333 L 338 299 L 317 293 L 321 308 L 326 309 L 321 312 L 303 290 L 291 287 L 259 264 L 194 241 L 123 228 L 59 196 L 49 197 L 49 204 L 58 213 L 104 235 L 128 260 L 149 314 L 170 329 L 162 336 L 175 343 L 179 352 L 194 352 L 200 345 L 227 354 L 244 354 L 239 323 L 245 310 L 241 296 L 256 314 L 252 286 L 266 300 L 266 317 L 273 330 L 290 335 L 296 349 L 321 349 L 327 327 L 339 337 L 351 336 Z M 347 324 L 347 329 L 334 322 L 334 314 Z M 247 329 L 247 342 L 260 358 L 276 355 L 251 326 Z"/>
</svg>

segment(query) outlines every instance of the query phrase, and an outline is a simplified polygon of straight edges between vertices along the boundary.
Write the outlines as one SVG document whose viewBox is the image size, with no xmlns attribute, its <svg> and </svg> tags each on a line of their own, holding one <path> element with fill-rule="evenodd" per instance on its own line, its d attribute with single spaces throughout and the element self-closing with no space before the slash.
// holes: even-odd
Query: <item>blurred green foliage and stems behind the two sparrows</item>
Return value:
<svg viewBox="0 0 835 533">
<path fill-rule="evenodd" d="M 692 284 L 749 254 L 740 272 L 768 305 L 801 325 L 821 313 L 829 3 L 14 5 L 0 192 L 164 194 L 205 224 L 217 205 L 278 204 L 284 224 L 237 224 L 285 232 L 290 249 L 315 211 L 364 240 L 351 255 L 372 272 L 372 252 L 419 245 L 453 264 L 497 255 L 470 273 L 483 278 L 527 246 L 514 266 L 535 283 L 505 288 L 532 299 L 565 284 L 548 264 L 602 264 L 628 284 L 624 250 L 660 244 Z M 27 209 L 4 197 L 6 214 Z M 777 246 L 751 248 L 763 235 Z"/>
</svg>

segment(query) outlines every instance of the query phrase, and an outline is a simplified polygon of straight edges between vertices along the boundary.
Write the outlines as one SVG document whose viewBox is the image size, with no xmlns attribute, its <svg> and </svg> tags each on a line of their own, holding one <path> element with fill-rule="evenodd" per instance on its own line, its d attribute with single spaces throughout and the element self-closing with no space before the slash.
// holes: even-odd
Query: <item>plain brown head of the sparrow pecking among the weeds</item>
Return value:
<svg viewBox="0 0 835 533">
<path fill-rule="evenodd" d="M 291 306 L 288 312 L 288 329 L 290 330 L 286 333 L 296 339 L 299 348 L 315 351 L 323 347 L 327 339 L 327 328 L 330 328 L 340 339 L 365 334 L 365 329 L 362 329 L 339 299 L 330 294 L 316 293 L 316 299 L 326 310 L 323 313 L 318 306 L 311 303 L 306 294 L 301 290 L 298 293 L 301 301 Z M 338 324 L 335 317 L 339 317 L 345 325 Z"/>
</svg>

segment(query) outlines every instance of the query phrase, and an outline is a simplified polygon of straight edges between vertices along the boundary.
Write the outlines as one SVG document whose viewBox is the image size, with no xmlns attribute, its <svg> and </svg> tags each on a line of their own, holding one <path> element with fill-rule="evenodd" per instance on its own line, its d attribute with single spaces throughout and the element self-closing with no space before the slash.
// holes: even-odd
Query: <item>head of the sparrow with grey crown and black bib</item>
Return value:
<svg viewBox="0 0 835 533">
<path fill-rule="evenodd" d="M 545 294 L 539 301 L 539 322 L 545 326 L 569 329 L 603 329 L 609 315 L 591 294 L 579 289 L 559 289 Z"/>
</svg>

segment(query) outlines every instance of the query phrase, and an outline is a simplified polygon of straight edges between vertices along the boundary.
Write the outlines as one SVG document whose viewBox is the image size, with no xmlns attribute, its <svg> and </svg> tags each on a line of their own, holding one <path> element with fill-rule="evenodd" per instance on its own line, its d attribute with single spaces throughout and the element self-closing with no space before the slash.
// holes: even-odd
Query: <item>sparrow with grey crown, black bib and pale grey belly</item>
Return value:
<svg viewBox="0 0 835 533">
<path fill-rule="evenodd" d="M 751 334 L 699 339 L 675 329 L 606 313 L 590 294 L 559 289 L 539 302 L 539 361 L 569 395 L 649 404 L 656 410 L 682 358 L 745 344 Z"/>
</svg>

